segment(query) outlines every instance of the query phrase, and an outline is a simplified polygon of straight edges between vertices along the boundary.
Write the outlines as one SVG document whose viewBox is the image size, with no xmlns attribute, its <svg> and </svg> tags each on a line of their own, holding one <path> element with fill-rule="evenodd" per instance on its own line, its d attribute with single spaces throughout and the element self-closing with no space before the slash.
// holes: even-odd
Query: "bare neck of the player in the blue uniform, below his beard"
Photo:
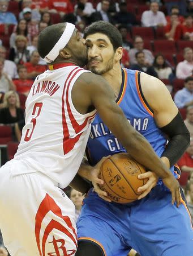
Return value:
<svg viewBox="0 0 193 256">
<path fill-rule="evenodd" d="M 121 65 L 119 63 L 115 64 L 110 71 L 104 73 L 102 76 L 109 82 L 115 96 L 118 97 L 122 83 Z"/>
</svg>

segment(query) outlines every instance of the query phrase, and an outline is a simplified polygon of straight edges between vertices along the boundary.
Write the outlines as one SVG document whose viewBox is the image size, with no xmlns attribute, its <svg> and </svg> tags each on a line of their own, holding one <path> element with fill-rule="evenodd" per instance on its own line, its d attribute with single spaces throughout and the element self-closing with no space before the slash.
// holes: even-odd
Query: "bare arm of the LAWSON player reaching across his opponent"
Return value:
<svg viewBox="0 0 193 256">
<path fill-rule="evenodd" d="M 122 143 L 132 158 L 143 164 L 158 177 L 171 175 L 165 164 L 155 154 L 147 140 L 127 121 L 108 83 L 93 73 L 83 73 L 72 89 L 72 101 L 82 114 L 89 106 L 95 106 L 102 121 Z"/>
</svg>

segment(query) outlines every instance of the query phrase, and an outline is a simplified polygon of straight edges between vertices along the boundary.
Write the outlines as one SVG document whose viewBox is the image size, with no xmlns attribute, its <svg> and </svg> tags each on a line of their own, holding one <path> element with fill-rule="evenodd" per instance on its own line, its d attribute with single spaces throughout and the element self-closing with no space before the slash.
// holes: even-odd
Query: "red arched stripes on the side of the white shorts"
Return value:
<svg viewBox="0 0 193 256">
<path fill-rule="evenodd" d="M 42 221 L 44 220 L 44 217 L 50 210 L 56 216 L 60 217 L 63 221 L 65 221 L 68 228 L 70 230 L 72 230 L 72 233 L 75 235 L 75 238 L 74 238 L 74 236 L 72 236 L 72 233 L 70 233 L 64 226 L 62 226 L 62 224 L 60 224 L 59 222 L 52 219 L 49 222 L 48 226 L 46 226 L 46 228 L 44 230 L 44 235 L 42 237 L 42 246 L 41 246 L 42 248 L 41 248 L 40 247 L 41 224 L 42 224 Z M 61 232 L 65 233 L 75 243 L 75 246 L 77 247 L 77 235 L 76 235 L 75 229 L 72 226 L 72 222 L 71 222 L 70 218 L 68 216 L 62 215 L 61 208 L 58 207 L 58 205 L 55 203 L 54 199 L 52 197 L 50 197 L 47 193 L 46 193 L 46 196 L 44 197 L 44 200 L 42 200 L 42 202 L 37 210 L 35 220 L 36 220 L 35 235 L 36 235 L 36 242 L 37 242 L 37 247 L 38 247 L 40 256 L 45 255 L 46 239 L 48 238 L 50 232 L 52 232 L 53 229 L 58 229 Z M 41 252 L 41 249 L 42 249 L 42 252 Z"/>
</svg>

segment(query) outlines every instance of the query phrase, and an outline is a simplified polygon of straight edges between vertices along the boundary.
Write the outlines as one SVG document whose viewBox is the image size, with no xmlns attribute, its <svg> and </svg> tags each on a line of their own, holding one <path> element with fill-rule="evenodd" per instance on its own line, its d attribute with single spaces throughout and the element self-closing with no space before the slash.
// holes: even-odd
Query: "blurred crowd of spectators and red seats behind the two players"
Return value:
<svg viewBox="0 0 193 256">
<path fill-rule="evenodd" d="M 122 67 L 162 80 L 185 119 L 192 139 L 178 162 L 179 182 L 193 218 L 192 15 L 191 0 L 0 0 L 0 145 L 7 144 L 8 159 L 21 138 L 29 90 L 47 69 L 37 52 L 38 34 L 51 24 L 71 22 L 84 35 L 89 24 L 105 20 L 122 35 Z M 82 201 L 76 191 L 69 196 Z M 7 255 L 1 244 L 0 237 L 0 255 Z"/>
</svg>

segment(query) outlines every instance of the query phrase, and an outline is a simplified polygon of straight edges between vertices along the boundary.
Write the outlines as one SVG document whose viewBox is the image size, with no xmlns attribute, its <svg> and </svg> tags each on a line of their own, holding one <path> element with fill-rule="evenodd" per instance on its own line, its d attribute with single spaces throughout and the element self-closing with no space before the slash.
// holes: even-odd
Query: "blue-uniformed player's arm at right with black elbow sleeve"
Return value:
<svg viewBox="0 0 193 256">
<path fill-rule="evenodd" d="M 160 80 L 145 73 L 141 73 L 140 76 L 141 89 L 145 100 L 153 110 L 155 122 L 170 139 L 162 154 L 162 160 L 170 167 L 185 152 L 190 142 L 190 134 L 166 86 Z M 167 155 L 169 157 L 166 157 Z"/>
</svg>

